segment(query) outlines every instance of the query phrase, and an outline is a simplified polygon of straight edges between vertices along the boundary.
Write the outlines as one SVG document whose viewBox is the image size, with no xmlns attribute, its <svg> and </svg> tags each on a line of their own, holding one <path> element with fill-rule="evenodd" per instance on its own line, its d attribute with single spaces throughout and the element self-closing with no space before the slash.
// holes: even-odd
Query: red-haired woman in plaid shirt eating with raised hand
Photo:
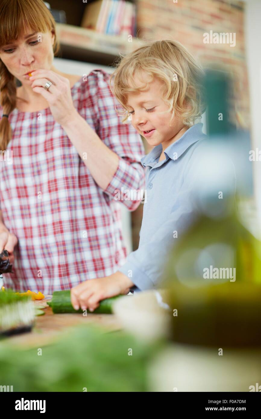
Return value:
<svg viewBox="0 0 261 419">
<path fill-rule="evenodd" d="M 56 51 L 42 0 L 1 0 L 0 252 L 13 262 L 4 282 L 45 294 L 123 264 L 114 197 L 144 187 L 142 142 L 116 114 L 109 75 L 59 72 Z"/>
</svg>

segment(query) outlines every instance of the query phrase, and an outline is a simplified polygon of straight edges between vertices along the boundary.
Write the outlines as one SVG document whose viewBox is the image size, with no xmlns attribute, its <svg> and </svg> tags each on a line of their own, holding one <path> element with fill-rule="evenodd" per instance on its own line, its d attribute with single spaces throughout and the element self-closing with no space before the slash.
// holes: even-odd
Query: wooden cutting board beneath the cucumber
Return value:
<svg viewBox="0 0 261 419">
<path fill-rule="evenodd" d="M 83 316 L 81 313 L 53 314 L 52 308 L 47 305 L 47 301 L 51 298 L 52 295 L 46 295 L 44 300 L 33 301 L 34 305 L 45 305 L 46 308 L 43 308 L 45 311 L 43 316 L 36 317 L 31 332 L 10 336 L 5 339 L 4 343 L 25 348 L 41 347 L 57 341 L 65 332 L 70 333 L 70 329 L 75 326 L 90 323 L 102 326 L 105 332 L 121 329 L 121 323 L 114 314 L 88 313 L 87 316 Z"/>
</svg>

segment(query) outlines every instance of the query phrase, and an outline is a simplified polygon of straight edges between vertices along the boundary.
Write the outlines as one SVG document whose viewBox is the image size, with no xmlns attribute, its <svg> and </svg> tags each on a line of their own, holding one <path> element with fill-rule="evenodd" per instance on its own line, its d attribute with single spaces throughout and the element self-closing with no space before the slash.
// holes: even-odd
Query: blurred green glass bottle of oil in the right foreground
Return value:
<svg viewBox="0 0 261 419">
<path fill-rule="evenodd" d="M 251 190 L 248 139 L 228 122 L 227 78 L 211 72 L 205 85 L 210 147 L 209 158 L 200 164 L 205 173 L 195 193 L 202 195 L 199 210 L 196 221 L 173 246 L 164 273 L 173 311 L 172 337 L 180 343 L 217 348 L 261 347 L 261 243 L 240 222 L 233 189 L 224 191 L 219 200 L 212 188 L 215 182 L 219 185 L 222 163 L 226 161 L 225 171 L 225 158 L 232 150 L 235 173 L 242 173 L 237 176 L 238 197 Z M 217 119 L 220 109 L 224 124 Z M 221 150 L 218 156 L 217 150 Z M 215 156 L 222 160 L 221 169 L 210 178 Z M 229 179 L 223 177 L 221 183 L 226 189 Z M 215 213 L 219 206 L 222 211 Z"/>
</svg>

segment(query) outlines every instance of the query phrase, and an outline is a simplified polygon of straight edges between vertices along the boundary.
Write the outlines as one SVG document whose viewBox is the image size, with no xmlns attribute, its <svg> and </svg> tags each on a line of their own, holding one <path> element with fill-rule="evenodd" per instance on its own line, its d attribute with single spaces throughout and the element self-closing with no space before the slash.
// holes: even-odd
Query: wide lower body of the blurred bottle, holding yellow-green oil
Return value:
<svg viewBox="0 0 261 419">
<path fill-rule="evenodd" d="M 261 345 L 260 242 L 235 215 L 199 217 L 171 251 L 165 280 L 174 341 Z"/>
</svg>

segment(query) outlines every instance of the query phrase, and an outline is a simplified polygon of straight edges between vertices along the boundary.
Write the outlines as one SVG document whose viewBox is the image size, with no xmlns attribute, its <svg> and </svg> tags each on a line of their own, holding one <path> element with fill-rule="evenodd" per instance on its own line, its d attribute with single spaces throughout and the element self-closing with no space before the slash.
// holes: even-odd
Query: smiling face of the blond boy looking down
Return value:
<svg viewBox="0 0 261 419">
<path fill-rule="evenodd" d="M 143 76 L 146 77 L 145 73 Z M 139 80 L 135 82 L 138 84 Z M 128 93 L 126 107 L 131 114 L 132 125 L 139 134 L 145 137 L 151 146 L 162 144 L 165 149 L 184 124 L 180 116 L 176 114 L 170 127 L 171 112 L 168 111 L 168 105 L 161 98 L 162 86 L 163 82 L 154 78 L 146 90 Z M 148 130 L 151 131 L 146 133 L 145 131 Z"/>
</svg>

